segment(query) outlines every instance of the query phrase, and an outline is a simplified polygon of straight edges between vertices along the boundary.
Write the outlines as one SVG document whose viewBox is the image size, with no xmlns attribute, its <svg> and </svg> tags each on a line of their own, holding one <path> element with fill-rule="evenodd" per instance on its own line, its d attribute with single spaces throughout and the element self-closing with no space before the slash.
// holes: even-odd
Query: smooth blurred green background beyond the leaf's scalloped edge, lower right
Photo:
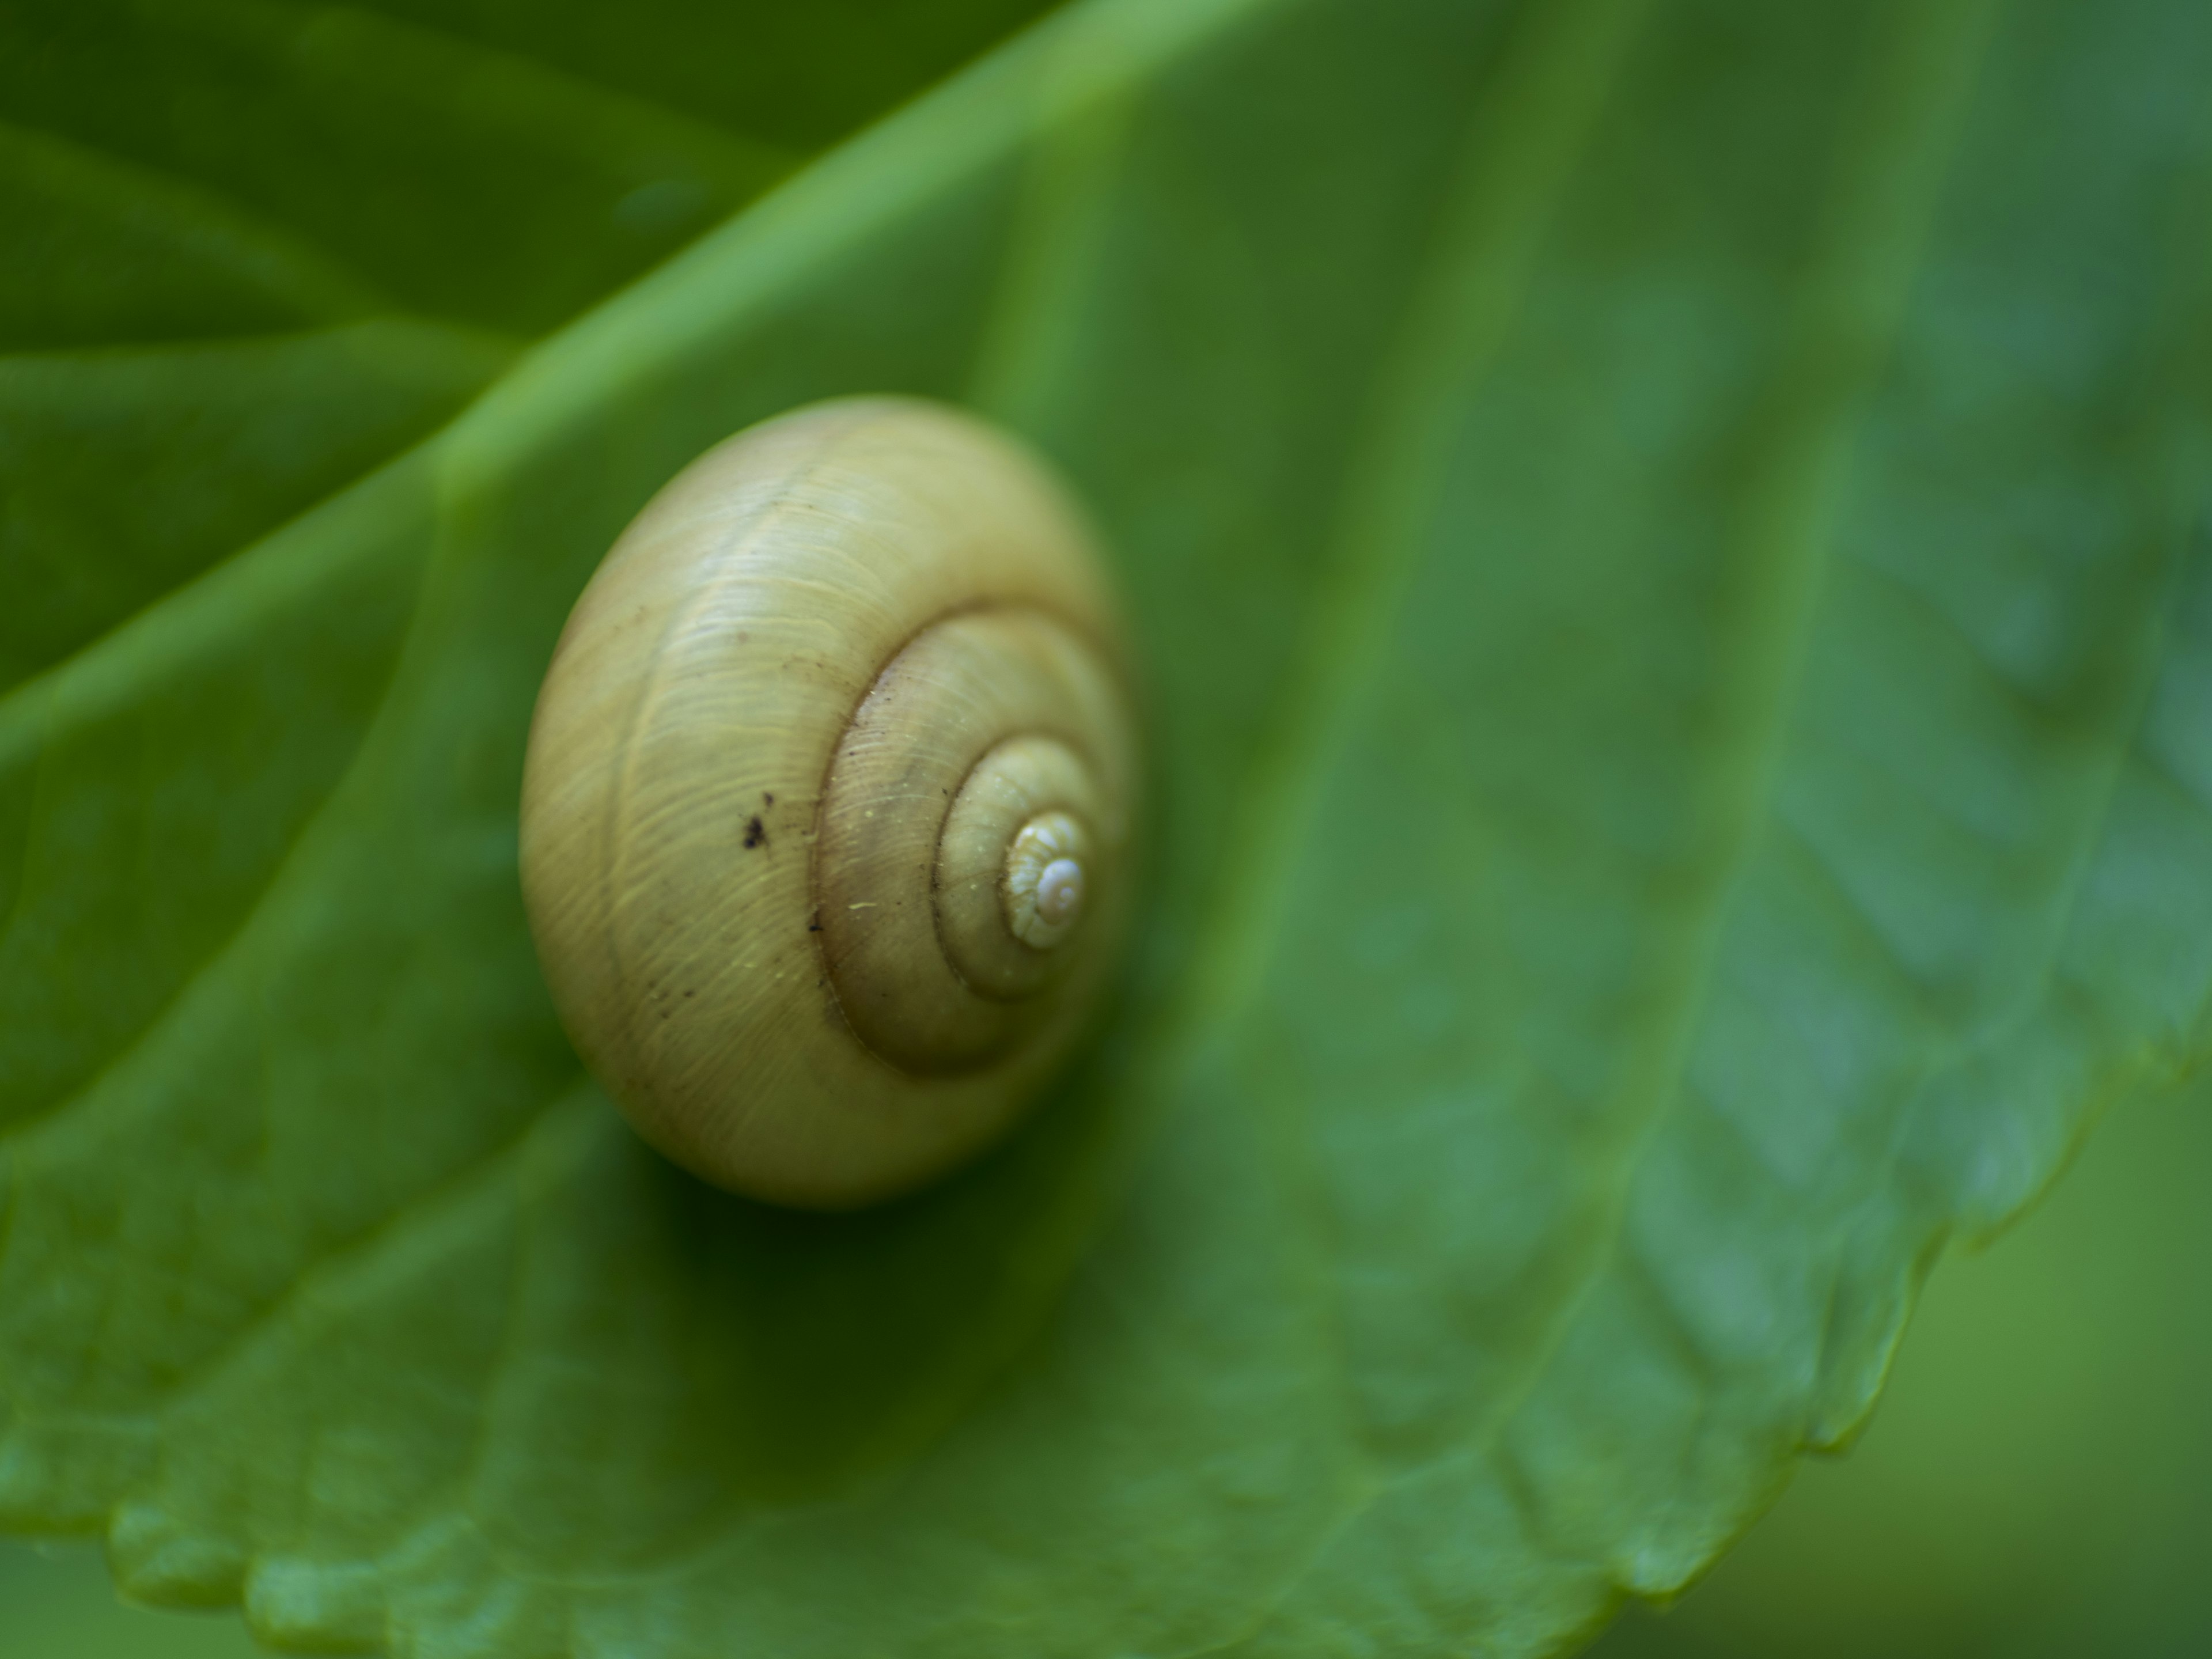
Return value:
<svg viewBox="0 0 2212 1659">
<path fill-rule="evenodd" d="M 2208 1084 L 2128 1102 L 1997 1250 L 1947 1259 L 1851 1455 L 1590 1659 L 2212 1648 Z"/>
</svg>

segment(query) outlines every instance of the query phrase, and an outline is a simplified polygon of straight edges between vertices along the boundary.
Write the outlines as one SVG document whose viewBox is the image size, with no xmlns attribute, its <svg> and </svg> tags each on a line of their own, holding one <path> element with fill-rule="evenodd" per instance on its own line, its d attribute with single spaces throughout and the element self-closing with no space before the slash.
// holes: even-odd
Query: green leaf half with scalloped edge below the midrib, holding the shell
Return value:
<svg viewBox="0 0 2212 1659">
<path fill-rule="evenodd" d="M 0 1517 L 398 1655 L 1679 1588 L 2212 1042 L 2208 73 L 2179 0 L 1110 0 L 810 166 L 0 706 Z M 580 1075 L 513 814 L 626 518 L 860 389 L 1084 489 L 1159 807 L 1066 1091 L 818 1219 Z"/>
</svg>

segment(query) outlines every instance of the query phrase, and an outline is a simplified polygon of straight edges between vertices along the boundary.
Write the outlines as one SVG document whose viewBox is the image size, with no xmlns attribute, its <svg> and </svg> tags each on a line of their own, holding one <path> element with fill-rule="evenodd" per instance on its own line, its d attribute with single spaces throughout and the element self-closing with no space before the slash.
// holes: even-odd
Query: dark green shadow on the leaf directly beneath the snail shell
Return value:
<svg viewBox="0 0 2212 1659">
<path fill-rule="evenodd" d="M 619 1433 L 626 1473 L 611 1513 L 562 1531 L 661 1548 L 732 1509 L 834 1498 L 945 1433 L 1035 1340 L 1121 1186 L 1133 1137 L 1108 1048 L 971 1168 L 854 1214 L 710 1188 L 588 1088 L 524 1265 L 526 1347 L 588 1376 L 535 1402 L 533 1440 Z"/>
</svg>

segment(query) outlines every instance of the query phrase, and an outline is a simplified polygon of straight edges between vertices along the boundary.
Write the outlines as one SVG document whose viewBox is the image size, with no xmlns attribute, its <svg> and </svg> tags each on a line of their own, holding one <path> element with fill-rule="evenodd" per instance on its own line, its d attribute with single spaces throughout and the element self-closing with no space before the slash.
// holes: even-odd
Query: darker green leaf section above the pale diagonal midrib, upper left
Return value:
<svg viewBox="0 0 2212 1659">
<path fill-rule="evenodd" d="M 31 593 L 0 688 L 422 438 L 520 341 L 1035 9 L 0 11 L 0 560 Z"/>
</svg>

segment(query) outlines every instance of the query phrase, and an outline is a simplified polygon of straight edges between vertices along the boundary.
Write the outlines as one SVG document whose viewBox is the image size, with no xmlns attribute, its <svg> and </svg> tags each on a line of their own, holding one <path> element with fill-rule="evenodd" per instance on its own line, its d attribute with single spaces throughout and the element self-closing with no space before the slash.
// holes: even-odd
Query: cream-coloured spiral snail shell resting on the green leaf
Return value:
<svg viewBox="0 0 2212 1659">
<path fill-rule="evenodd" d="M 1135 790 L 1117 606 L 1060 484 L 953 409 L 821 403 L 677 473 L 584 588 L 522 894 L 646 1139 L 849 1208 L 980 1150 L 1066 1060 Z"/>
</svg>

